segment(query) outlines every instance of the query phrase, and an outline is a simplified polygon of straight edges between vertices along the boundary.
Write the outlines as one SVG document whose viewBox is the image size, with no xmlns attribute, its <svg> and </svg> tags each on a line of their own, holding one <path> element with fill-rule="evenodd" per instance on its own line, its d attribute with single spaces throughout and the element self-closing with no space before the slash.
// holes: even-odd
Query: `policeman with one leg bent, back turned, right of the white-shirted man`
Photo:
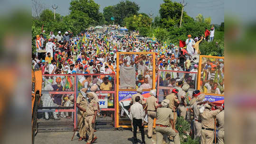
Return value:
<svg viewBox="0 0 256 144">
<path fill-rule="evenodd" d="M 173 112 L 168 108 L 169 105 L 170 100 L 164 99 L 161 102 L 161 108 L 156 110 L 156 144 L 162 144 L 163 135 L 172 136 L 174 144 L 180 144 L 179 132 L 175 129 Z"/>
</svg>

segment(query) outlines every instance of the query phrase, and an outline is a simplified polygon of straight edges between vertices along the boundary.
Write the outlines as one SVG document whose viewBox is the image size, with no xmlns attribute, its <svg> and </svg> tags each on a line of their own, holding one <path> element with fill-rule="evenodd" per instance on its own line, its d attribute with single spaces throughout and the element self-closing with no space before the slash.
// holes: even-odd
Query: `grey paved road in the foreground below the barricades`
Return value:
<svg viewBox="0 0 256 144">
<path fill-rule="evenodd" d="M 95 132 L 98 139 L 94 144 L 133 144 L 133 133 L 129 130 L 98 130 Z M 148 139 L 145 131 L 146 144 L 155 144 L 155 135 L 152 139 Z M 35 137 L 35 144 L 86 144 L 85 141 L 78 142 L 78 136 L 74 136 L 71 141 L 73 132 L 54 132 L 54 133 L 38 133 Z M 141 134 L 137 134 L 139 142 L 141 142 Z"/>
</svg>

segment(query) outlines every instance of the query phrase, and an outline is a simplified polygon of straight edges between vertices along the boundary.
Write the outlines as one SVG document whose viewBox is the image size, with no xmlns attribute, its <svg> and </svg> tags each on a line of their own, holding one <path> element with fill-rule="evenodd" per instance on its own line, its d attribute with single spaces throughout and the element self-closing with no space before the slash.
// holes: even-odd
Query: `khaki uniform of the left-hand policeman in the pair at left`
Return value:
<svg viewBox="0 0 256 144">
<path fill-rule="evenodd" d="M 83 95 L 79 94 L 77 99 L 76 99 L 76 104 L 79 104 L 80 107 L 86 109 L 87 105 L 88 105 L 88 101 L 87 101 L 87 99 L 85 99 L 85 97 Z M 78 124 L 78 126 L 79 126 L 79 135 L 80 135 L 80 137 L 86 137 L 85 117 L 87 116 L 87 113 L 84 112 L 83 116 L 82 116 L 82 114 L 83 114 L 82 110 L 77 111 L 77 122 L 79 123 L 79 121 L 80 121 L 80 123 Z M 81 119 L 81 117 L 82 117 L 82 119 Z"/>
</svg>

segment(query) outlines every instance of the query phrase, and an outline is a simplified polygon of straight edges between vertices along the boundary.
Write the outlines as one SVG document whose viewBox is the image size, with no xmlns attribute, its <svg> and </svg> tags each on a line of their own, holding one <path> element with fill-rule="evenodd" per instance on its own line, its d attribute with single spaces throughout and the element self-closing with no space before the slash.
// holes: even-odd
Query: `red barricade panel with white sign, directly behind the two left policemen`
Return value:
<svg viewBox="0 0 256 144">
<path fill-rule="evenodd" d="M 104 79 L 108 79 L 107 85 L 112 85 L 111 89 L 104 84 Z M 87 92 L 91 91 L 88 82 L 92 85 L 97 85 L 96 94 L 99 99 L 100 114 L 96 119 L 95 129 L 114 129 L 116 127 L 116 76 L 115 74 L 76 74 L 76 98 L 80 94 L 82 88 L 88 88 Z M 110 84 L 109 84 L 110 83 Z M 84 85 L 84 86 L 82 86 Z"/>
</svg>

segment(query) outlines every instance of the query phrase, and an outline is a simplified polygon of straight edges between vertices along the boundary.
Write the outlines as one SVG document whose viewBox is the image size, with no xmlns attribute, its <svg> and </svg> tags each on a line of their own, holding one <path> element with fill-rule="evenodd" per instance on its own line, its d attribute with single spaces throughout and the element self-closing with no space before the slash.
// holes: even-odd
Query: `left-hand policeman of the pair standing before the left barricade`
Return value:
<svg viewBox="0 0 256 144">
<path fill-rule="evenodd" d="M 87 89 L 83 88 L 80 91 L 81 91 L 81 94 L 79 93 L 76 99 L 76 107 L 78 108 L 77 121 L 79 123 L 78 126 L 79 126 L 79 135 L 80 135 L 80 138 L 78 139 L 78 141 L 82 141 L 83 139 L 86 139 L 85 117 L 87 116 L 86 108 L 88 105 L 88 101 L 86 99 Z"/>
</svg>

